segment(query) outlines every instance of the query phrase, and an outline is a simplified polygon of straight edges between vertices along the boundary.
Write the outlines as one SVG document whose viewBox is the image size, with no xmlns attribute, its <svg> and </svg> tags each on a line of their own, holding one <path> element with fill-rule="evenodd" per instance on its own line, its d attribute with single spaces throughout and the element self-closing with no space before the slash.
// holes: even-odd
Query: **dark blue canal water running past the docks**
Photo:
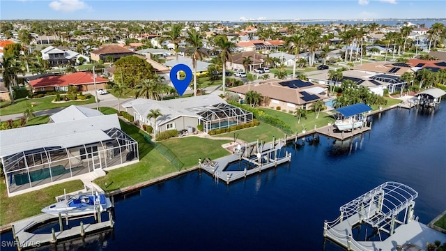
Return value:
<svg viewBox="0 0 446 251">
<path fill-rule="evenodd" d="M 324 242 L 324 220 L 385 181 L 419 192 L 427 224 L 446 209 L 445 105 L 376 114 L 348 142 L 290 145 L 291 164 L 229 186 L 193 172 L 144 188 L 116 199 L 112 234 L 70 250 L 340 250 Z"/>
</svg>

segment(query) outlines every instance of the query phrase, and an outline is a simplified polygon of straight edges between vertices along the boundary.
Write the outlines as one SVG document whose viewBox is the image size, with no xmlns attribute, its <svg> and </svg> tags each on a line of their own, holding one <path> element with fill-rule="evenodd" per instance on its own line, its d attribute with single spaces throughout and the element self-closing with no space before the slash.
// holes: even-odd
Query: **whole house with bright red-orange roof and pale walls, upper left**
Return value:
<svg viewBox="0 0 446 251">
<path fill-rule="evenodd" d="M 76 86 L 77 91 L 105 89 L 109 79 L 95 77 L 93 73 L 78 72 L 61 76 L 48 76 L 29 81 L 34 91 L 68 91 L 68 86 Z"/>
</svg>

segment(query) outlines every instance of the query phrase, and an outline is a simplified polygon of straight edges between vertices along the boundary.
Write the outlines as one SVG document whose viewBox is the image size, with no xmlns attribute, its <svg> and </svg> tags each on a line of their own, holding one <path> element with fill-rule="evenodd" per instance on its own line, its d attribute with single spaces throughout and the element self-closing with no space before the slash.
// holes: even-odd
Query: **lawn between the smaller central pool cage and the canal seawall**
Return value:
<svg viewBox="0 0 446 251">
<path fill-rule="evenodd" d="M 236 130 L 235 132 L 227 132 L 221 135 L 215 135 L 215 137 L 234 137 L 236 134 L 237 139 L 242 139 L 245 142 L 255 142 L 257 139 L 263 140 L 264 142 L 272 141 L 272 137 L 283 138 L 284 132 L 268 125 L 267 123 L 260 122 L 259 126 L 254 128 L 246 128 L 242 130 Z"/>
</svg>

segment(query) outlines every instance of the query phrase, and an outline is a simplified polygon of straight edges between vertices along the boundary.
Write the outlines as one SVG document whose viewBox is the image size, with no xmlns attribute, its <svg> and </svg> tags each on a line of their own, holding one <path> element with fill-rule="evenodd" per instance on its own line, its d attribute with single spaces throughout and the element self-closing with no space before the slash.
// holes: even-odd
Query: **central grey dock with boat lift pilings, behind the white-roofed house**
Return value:
<svg viewBox="0 0 446 251">
<path fill-rule="evenodd" d="M 259 141 L 246 143 L 245 146 L 238 144 L 232 149 L 232 155 L 215 161 L 204 160 L 200 168 L 216 180 L 229 184 L 271 167 L 277 167 L 284 162 L 291 162 L 291 153 L 284 150 L 285 145 L 285 139 L 278 140 L 277 144 L 275 140 L 268 144 L 262 144 Z M 238 163 L 238 168 L 227 169 L 231 163 Z"/>
</svg>

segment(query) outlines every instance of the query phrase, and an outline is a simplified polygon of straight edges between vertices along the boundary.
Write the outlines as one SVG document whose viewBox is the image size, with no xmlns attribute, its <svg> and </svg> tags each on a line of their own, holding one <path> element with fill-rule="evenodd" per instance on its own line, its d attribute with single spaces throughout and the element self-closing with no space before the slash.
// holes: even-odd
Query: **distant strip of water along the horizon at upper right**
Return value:
<svg viewBox="0 0 446 251">
<path fill-rule="evenodd" d="M 436 22 L 439 22 L 441 24 L 446 25 L 446 19 L 438 19 L 438 20 L 371 20 L 371 21 L 364 21 L 364 20 L 330 20 L 330 21 L 309 21 L 309 20 L 289 20 L 289 21 L 275 21 L 275 22 L 262 22 L 262 21 L 253 21 L 254 24 L 261 23 L 261 24 L 273 24 L 273 23 L 293 23 L 293 24 L 323 24 L 324 26 L 329 26 L 330 24 L 384 24 L 387 26 L 401 26 L 404 22 L 411 22 L 413 24 L 424 24 L 426 28 L 430 28 L 432 24 L 435 24 Z M 235 24 L 243 24 L 245 22 L 223 22 L 222 24 L 233 26 Z"/>
</svg>

